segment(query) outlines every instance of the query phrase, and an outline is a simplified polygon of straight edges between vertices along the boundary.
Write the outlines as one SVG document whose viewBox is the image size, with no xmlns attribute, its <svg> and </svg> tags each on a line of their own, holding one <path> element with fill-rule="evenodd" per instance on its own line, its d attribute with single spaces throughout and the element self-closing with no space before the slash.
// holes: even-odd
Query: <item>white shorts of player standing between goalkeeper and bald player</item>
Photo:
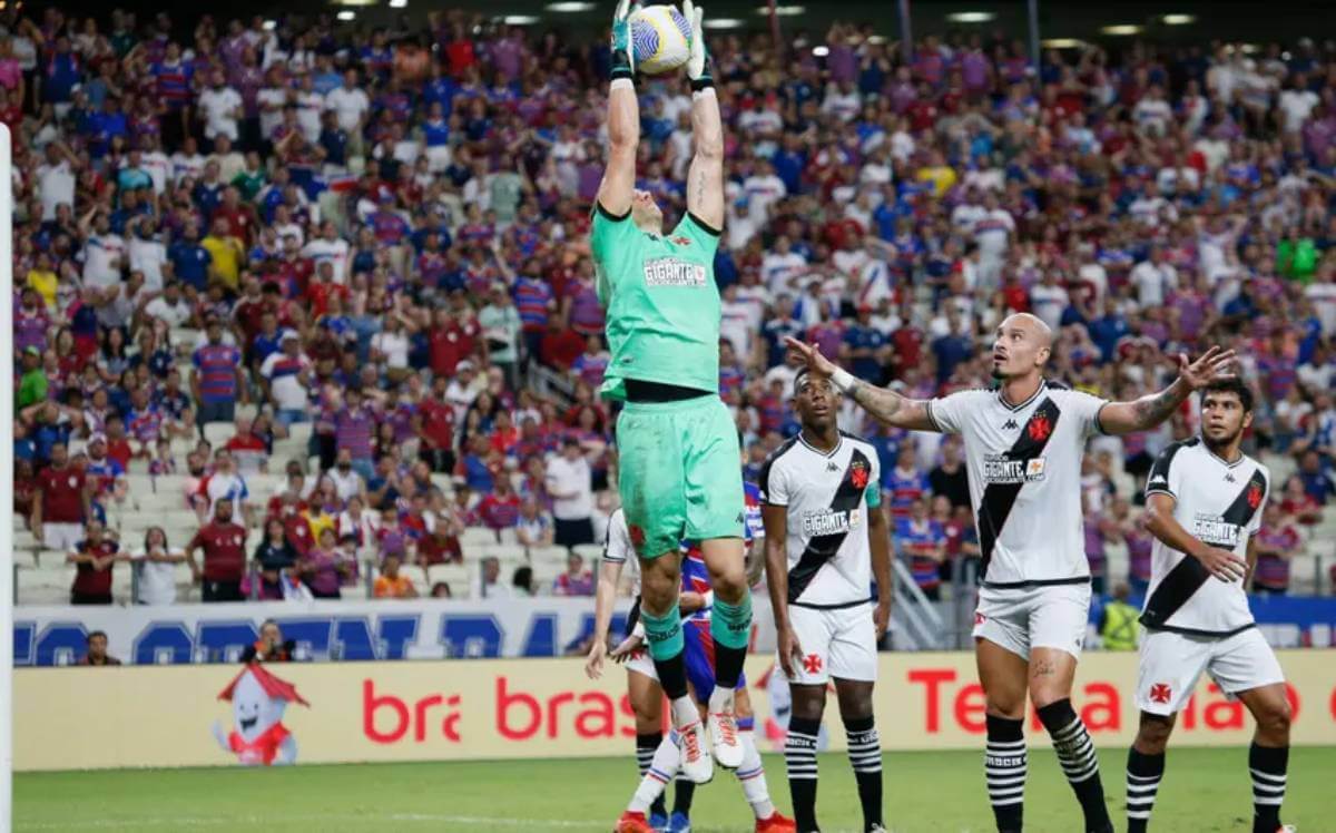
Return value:
<svg viewBox="0 0 1336 833">
<path fill-rule="evenodd" d="M 871 603 L 835 610 L 791 606 L 788 623 L 803 648 L 803 661 L 795 663 L 795 677 L 790 682 L 824 686 L 832 677 L 876 681 L 876 624 Z"/>
</svg>

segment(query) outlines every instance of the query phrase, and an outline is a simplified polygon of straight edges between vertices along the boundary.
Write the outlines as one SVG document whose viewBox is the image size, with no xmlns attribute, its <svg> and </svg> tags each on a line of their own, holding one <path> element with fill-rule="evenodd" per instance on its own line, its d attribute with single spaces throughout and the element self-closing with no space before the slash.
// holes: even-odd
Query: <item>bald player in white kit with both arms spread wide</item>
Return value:
<svg viewBox="0 0 1336 833">
<path fill-rule="evenodd" d="M 1025 703 L 1034 701 L 1062 770 L 1085 812 L 1085 830 L 1109 833 L 1100 763 L 1071 707 L 1071 683 L 1090 610 L 1090 567 L 1081 511 L 1081 456 L 1097 432 L 1124 435 L 1165 421 L 1188 396 L 1233 366 L 1212 348 L 1178 357 L 1178 378 L 1160 393 L 1110 402 L 1043 378 L 1053 333 L 1021 313 L 997 329 L 993 390 L 911 400 L 859 381 L 788 340 L 791 356 L 878 420 L 965 439 L 970 503 L 979 532 L 974 654 L 987 703 L 985 776 L 999 833 L 1021 830 L 1026 774 Z"/>
</svg>

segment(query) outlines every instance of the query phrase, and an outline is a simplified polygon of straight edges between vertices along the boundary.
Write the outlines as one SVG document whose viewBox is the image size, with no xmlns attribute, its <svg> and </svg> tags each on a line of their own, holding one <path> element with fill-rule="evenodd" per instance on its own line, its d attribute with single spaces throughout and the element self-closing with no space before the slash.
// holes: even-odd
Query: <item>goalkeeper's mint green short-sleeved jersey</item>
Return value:
<svg viewBox="0 0 1336 833">
<path fill-rule="evenodd" d="M 660 237 L 597 206 L 591 238 L 612 350 L 600 394 L 627 398 L 628 378 L 716 393 L 719 233 L 687 214 Z"/>
</svg>

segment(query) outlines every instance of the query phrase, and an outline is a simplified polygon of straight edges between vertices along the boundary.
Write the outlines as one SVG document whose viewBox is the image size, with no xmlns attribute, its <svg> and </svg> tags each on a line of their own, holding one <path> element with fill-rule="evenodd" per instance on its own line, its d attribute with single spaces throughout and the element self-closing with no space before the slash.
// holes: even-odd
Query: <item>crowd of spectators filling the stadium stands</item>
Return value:
<svg viewBox="0 0 1336 833">
<path fill-rule="evenodd" d="M 0 21 L 15 503 L 75 564 L 72 600 L 111 602 L 127 559 L 143 602 L 187 598 L 182 563 L 210 600 L 592 592 L 576 554 L 544 582 L 494 559 L 472 587 L 409 574 L 464 560 L 476 528 L 593 544 L 613 508 L 587 241 L 604 36 L 462 12 Z M 982 32 L 925 37 L 908 64 L 850 25 L 711 49 L 719 385 L 748 476 L 796 431 L 786 336 L 916 397 L 987 385 L 1010 310 L 1059 333 L 1053 378 L 1122 400 L 1220 344 L 1259 392 L 1250 447 L 1283 467 L 1255 588 L 1287 590 L 1336 499 L 1336 47 L 1129 41 L 1046 51 L 1038 72 Z M 671 225 L 691 99 L 677 75 L 639 91 L 637 187 Z M 1149 579 L 1138 477 L 1193 409 L 1092 443 L 1088 555 L 1110 590 Z M 961 449 L 860 420 L 937 598 L 978 552 Z M 118 540 L 136 473 L 179 484 L 190 542 Z M 1125 570 L 1106 575 L 1108 547 Z"/>
</svg>

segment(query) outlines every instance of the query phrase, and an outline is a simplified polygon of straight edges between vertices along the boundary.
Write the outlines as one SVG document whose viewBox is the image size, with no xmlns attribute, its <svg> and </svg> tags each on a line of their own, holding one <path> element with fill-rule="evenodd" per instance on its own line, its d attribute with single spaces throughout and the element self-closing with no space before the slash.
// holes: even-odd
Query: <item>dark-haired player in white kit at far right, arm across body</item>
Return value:
<svg viewBox="0 0 1336 833">
<path fill-rule="evenodd" d="M 1280 822 L 1289 763 L 1285 677 L 1255 626 L 1245 590 L 1271 491 L 1267 467 L 1240 448 L 1252 409 L 1252 390 L 1240 380 L 1208 385 L 1201 436 L 1174 443 L 1150 469 L 1146 525 L 1156 544 L 1141 614 L 1141 726 L 1128 750 L 1128 833 L 1146 830 L 1169 734 L 1202 671 L 1257 721 L 1248 751 L 1253 833 L 1292 829 Z"/>
</svg>

